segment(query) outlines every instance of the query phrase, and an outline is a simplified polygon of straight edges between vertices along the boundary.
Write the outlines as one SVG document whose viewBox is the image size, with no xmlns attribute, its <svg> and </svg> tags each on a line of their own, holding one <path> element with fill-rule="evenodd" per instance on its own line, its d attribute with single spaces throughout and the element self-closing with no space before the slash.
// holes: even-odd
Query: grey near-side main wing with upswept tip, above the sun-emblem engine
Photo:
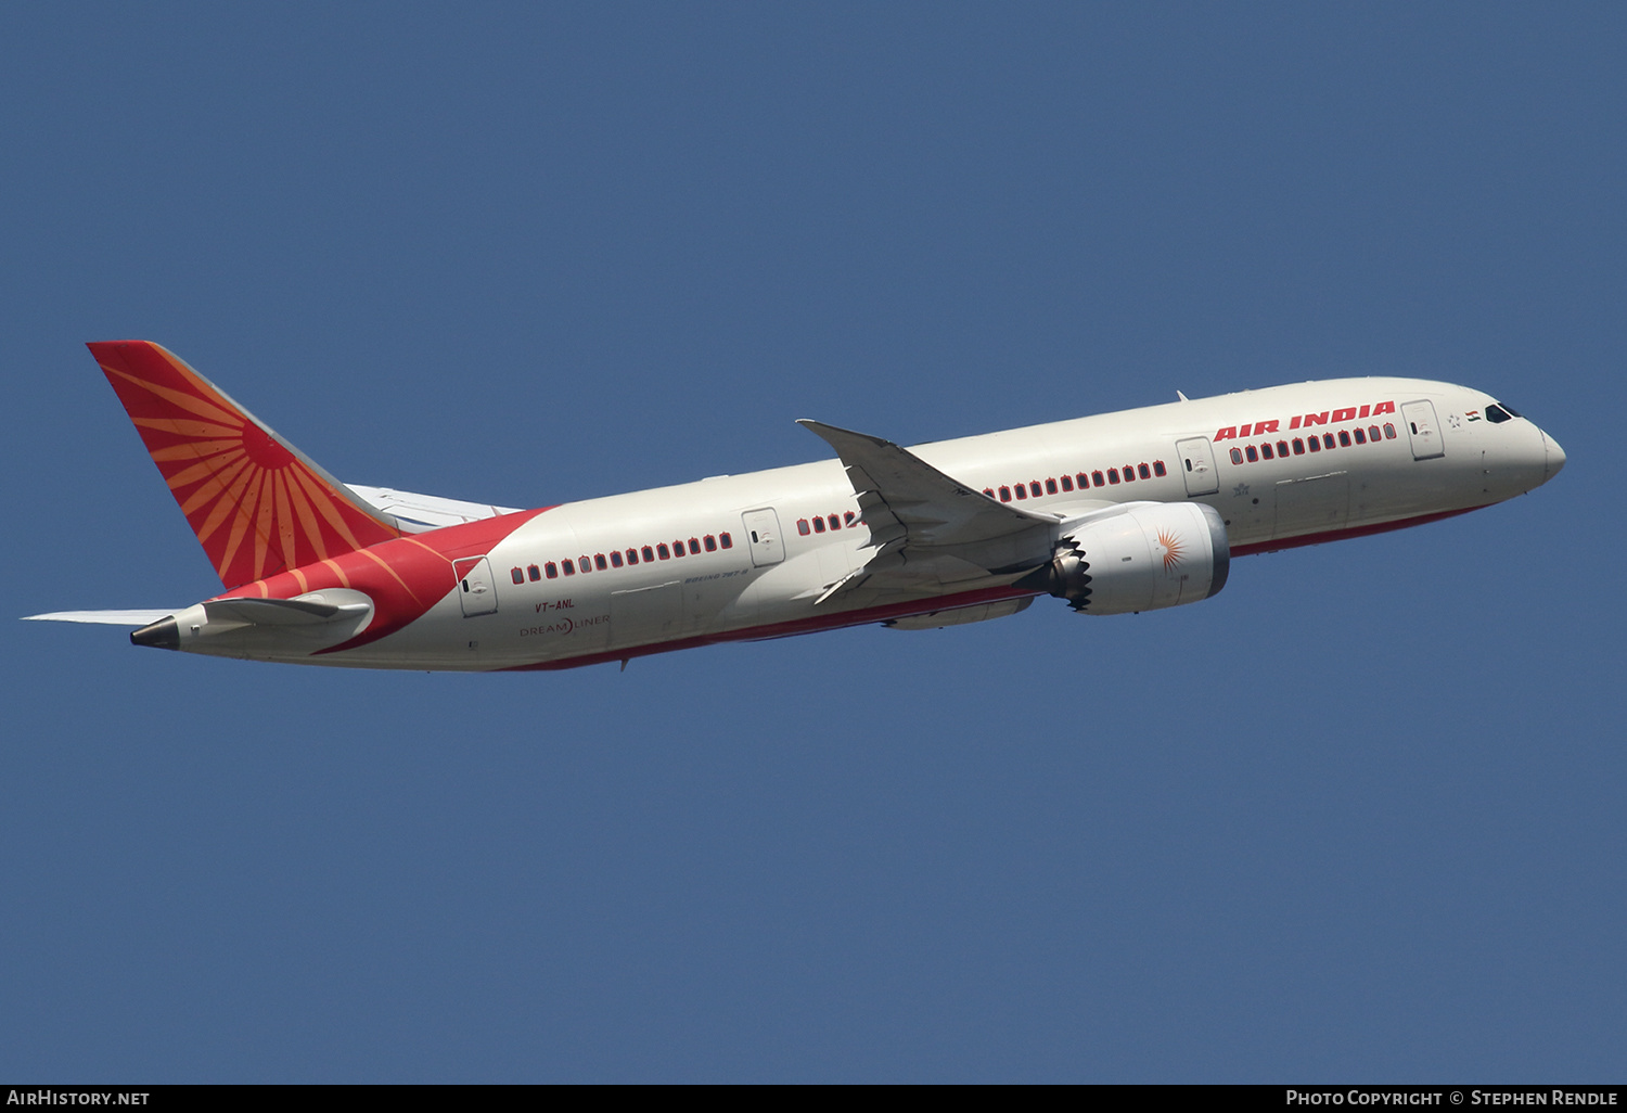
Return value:
<svg viewBox="0 0 1627 1113">
<path fill-rule="evenodd" d="M 991 578 L 1014 583 L 1049 560 L 1056 517 L 996 503 L 879 436 L 822 421 L 797 425 L 836 449 L 875 548 L 864 568 L 817 602 L 906 599 Z"/>
</svg>

